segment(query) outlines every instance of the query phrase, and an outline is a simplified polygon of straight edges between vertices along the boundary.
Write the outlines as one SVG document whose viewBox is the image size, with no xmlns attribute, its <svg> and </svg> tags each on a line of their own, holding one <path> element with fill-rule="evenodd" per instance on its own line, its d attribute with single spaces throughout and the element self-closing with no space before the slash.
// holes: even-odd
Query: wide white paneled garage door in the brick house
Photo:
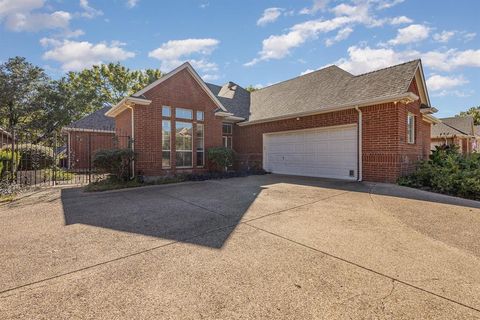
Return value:
<svg viewBox="0 0 480 320">
<path fill-rule="evenodd" d="M 263 135 L 266 171 L 355 180 L 357 126 L 315 128 Z"/>
</svg>

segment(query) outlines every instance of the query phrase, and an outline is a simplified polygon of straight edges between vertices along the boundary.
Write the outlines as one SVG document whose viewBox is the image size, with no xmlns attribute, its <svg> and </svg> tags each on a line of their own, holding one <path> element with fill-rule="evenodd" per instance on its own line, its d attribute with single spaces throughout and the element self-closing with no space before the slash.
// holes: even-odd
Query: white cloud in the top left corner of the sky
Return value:
<svg viewBox="0 0 480 320">
<path fill-rule="evenodd" d="M 45 6 L 44 0 L 0 1 L 0 20 L 13 31 L 39 31 L 41 29 L 65 29 L 72 18 L 65 11 L 36 13 Z"/>
</svg>

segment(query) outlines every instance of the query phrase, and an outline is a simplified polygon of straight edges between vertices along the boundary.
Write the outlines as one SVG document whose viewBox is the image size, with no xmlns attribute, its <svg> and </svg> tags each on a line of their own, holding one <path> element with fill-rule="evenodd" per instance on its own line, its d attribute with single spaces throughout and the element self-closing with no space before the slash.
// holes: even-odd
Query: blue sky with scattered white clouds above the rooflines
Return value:
<svg viewBox="0 0 480 320">
<path fill-rule="evenodd" d="M 121 61 L 266 86 L 329 64 L 360 74 L 422 58 L 431 102 L 480 105 L 480 1 L 0 0 L 0 61 L 52 77 Z"/>
</svg>

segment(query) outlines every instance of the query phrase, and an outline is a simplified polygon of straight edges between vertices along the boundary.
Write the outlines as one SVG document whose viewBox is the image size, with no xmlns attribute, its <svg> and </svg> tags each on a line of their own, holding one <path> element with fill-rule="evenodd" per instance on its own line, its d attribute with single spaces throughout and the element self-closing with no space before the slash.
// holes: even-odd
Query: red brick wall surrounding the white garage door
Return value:
<svg viewBox="0 0 480 320">
<path fill-rule="evenodd" d="M 419 102 L 387 103 L 360 108 L 363 116 L 362 162 L 365 181 L 395 182 L 412 172 L 418 160 L 428 157 L 430 124 L 422 121 Z M 416 116 L 415 144 L 407 143 L 407 113 Z M 233 147 L 239 166 L 261 166 L 263 133 L 327 127 L 358 122 L 355 109 L 331 112 L 300 120 L 287 119 L 250 126 L 235 126 Z"/>
</svg>

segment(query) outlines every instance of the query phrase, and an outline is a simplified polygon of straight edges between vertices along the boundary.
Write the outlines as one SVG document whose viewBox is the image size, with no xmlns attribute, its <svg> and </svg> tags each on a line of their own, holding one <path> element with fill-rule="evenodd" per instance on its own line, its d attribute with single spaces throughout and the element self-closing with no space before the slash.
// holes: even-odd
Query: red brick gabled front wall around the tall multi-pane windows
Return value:
<svg viewBox="0 0 480 320">
<path fill-rule="evenodd" d="M 156 87 L 146 92 L 145 97 L 152 100 L 149 106 L 134 106 L 135 121 L 135 171 L 139 171 L 146 176 L 161 176 L 181 172 L 202 172 L 205 169 L 197 168 L 196 164 L 196 141 L 193 139 L 193 168 L 176 169 L 175 167 L 175 144 L 172 143 L 171 149 L 171 168 L 162 169 L 162 106 L 172 108 L 172 120 L 175 120 L 175 108 L 192 109 L 204 112 L 205 129 L 205 150 L 210 147 L 222 145 L 222 118 L 215 116 L 215 110 L 218 108 L 207 93 L 195 81 L 192 75 L 183 70 L 160 83 Z M 128 121 L 122 117 L 122 112 L 116 118 L 117 126 L 128 126 Z M 189 122 L 181 119 L 179 121 Z M 193 122 L 193 134 L 195 136 L 196 124 Z M 172 122 L 174 130 L 174 122 Z M 172 135 L 174 131 L 172 130 Z M 205 156 L 206 158 L 206 156 Z"/>
</svg>

